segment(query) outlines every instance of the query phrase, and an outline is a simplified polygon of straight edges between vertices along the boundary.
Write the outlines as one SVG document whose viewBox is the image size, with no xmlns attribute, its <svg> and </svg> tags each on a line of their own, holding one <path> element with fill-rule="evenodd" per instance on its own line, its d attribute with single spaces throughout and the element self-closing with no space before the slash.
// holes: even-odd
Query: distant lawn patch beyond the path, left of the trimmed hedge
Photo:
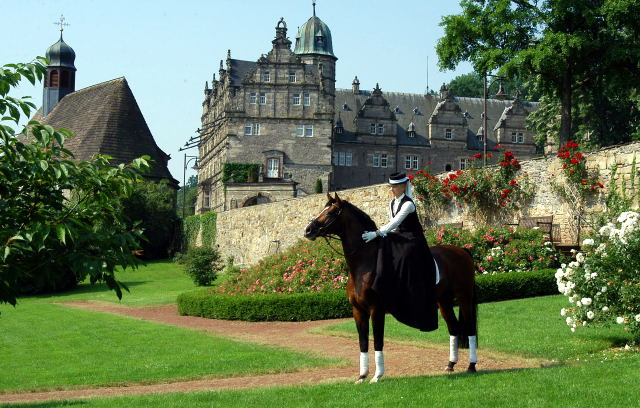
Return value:
<svg viewBox="0 0 640 408">
<path fill-rule="evenodd" d="M 119 301 L 115 292 L 105 284 L 81 283 L 73 291 L 53 295 L 39 295 L 19 299 L 23 302 L 66 302 L 73 300 L 100 300 L 119 302 L 127 306 L 144 306 L 174 303 L 182 292 L 194 290 L 197 286 L 183 271 L 183 267 L 171 261 L 150 262 L 136 270 L 120 270 L 116 278 L 124 282 L 130 292 L 123 291 Z"/>
</svg>

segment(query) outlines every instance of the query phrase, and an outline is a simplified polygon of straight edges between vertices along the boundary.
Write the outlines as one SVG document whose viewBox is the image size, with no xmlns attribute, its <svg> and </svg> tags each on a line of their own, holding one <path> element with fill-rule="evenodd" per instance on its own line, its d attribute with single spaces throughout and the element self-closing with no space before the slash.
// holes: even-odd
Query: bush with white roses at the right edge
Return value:
<svg viewBox="0 0 640 408">
<path fill-rule="evenodd" d="M 555 276 L 569 300 L 560 314 L 571 331 L 620 324 L 640 343 L 640 214 L 623 212 L 615 224 L 600 228 Z"/>
</svg>

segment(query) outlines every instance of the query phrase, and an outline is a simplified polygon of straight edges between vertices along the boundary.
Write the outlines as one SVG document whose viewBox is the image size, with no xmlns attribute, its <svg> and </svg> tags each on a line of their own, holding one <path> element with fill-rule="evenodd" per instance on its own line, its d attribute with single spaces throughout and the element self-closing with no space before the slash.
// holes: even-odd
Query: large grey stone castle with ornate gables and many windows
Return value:
<svg viewBox="0 0 640 408">
<path fill-rule="evenodd" d="M 334 191 L 383 183 L 396 171 L 464 169 L 483 151 L 480 98 L 457 98 L 444 85 L 439 95 L 383 92 L 378 84 L 366 91 L 357 76 L 352 89 L 336 89 L 338 58 L 315 6 L 293 51 L 284 19 L 271 43 L 255 62 L 228 51 L 211 88 L 205 83 L 197 213 L 299 197 L 320 184 Z M 532 157 L 525 120 L 536 108 L 519 95 L 488 100 L 487 149 L 500 143 Z M 224 179 L 231 163 L 260 171 L 248 182 Z"/>
</svg>

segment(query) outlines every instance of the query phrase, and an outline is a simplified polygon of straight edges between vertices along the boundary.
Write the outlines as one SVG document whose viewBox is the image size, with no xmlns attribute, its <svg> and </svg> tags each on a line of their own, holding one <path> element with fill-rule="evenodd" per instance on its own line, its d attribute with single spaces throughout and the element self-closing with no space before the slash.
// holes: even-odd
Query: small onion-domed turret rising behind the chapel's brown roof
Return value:
<svg viewBox="0 0 640 408">
<path fill-rule="evenodd" d="M 62 39 L 62 30 L 60 40 L 47 49 L 46 57 L 49 65 L 44 80 L 42 117 L 47 116 L 56 104 L 65 95 L 75 91 L 76 87 L 76 67 L 73 65 L 76 53 Z"/>
</svg>

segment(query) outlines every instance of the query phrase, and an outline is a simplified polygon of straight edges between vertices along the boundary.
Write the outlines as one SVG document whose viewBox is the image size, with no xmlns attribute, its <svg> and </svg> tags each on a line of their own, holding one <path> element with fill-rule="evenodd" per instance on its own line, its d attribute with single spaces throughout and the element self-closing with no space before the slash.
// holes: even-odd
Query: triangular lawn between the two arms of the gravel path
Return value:
<svg viewBox="0 0 640 408">
<path fill-rule="evenodd" d="M 0 392 L 286 372 L 334 360 L 52 304 L 2 307 Z"/>
</svg>

